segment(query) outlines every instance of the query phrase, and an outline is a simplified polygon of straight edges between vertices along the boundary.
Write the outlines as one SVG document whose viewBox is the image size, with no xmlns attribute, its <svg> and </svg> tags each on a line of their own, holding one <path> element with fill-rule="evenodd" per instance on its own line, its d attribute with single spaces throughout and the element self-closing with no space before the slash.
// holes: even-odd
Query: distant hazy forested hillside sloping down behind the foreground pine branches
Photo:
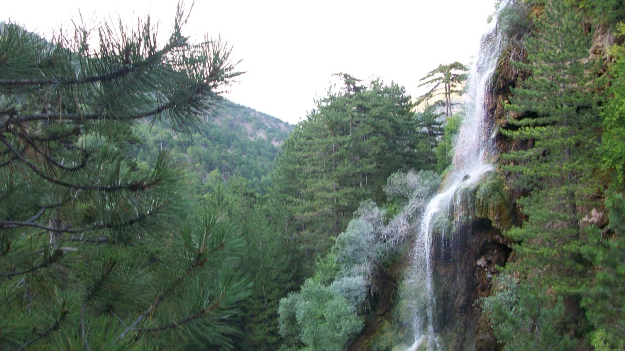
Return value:
<svg viewBox="0 0 625 351">
<path fill-rule="evenodd" d="M 204 121 L 191 133 L 166 124 L 140 122 L 132 152 L 149 164 L 154 151 L 168 151 L 174 161 L 189 164 L 200 184 L 212 171 L 224 180 L 235 175 L 252 180 L 256 190 L 266 188 L 280 146 L 292 125 L 227 100 L 205 112 Z"/>
</svg>

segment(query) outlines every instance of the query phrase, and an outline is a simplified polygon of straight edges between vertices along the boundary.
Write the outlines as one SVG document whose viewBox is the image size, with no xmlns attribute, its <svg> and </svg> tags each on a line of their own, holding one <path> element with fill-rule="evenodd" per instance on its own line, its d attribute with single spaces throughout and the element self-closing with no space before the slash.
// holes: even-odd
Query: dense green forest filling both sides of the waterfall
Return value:
<svg viewBox="0 0 625 351">
<path fill-rule="evenodd" d="M 0 350 L 341 351 L 391 313 L 466 66 L 415 99 L 337 74 L 289 126 L 221 96 L 241 72 L 186 15 L 163 43 L 149 18 L 53 39 L 0 25 Z M 494 166 L 519 216 L 475 302 L 492 350 L 625 350 L 625 4 L 498 16 Z"/>
</svg>

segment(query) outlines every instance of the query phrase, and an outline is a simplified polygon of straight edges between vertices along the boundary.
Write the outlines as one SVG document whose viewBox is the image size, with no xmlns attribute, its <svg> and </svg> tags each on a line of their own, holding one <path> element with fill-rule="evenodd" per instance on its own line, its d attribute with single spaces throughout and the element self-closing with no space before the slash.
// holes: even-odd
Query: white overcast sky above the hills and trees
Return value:
<svg viewBox="0 0 625 351">
<path fill-rule="evenodd" d="M 171 27 L 176 0 L 2 0 L 0 21 L 46 34 L 77 18 Z M 187 7 L 191 1 L 186 1 Z M 468 64 L 494 0 L 196 0 L 183 34 L 220 36 L 246 71 L 225 96 L 287 122 L 305 119 L 331 75 L 397 82 L 413 97 L 438 64 Z M 95 21 L 94 21 L 95 22 Z"/>
</svg>

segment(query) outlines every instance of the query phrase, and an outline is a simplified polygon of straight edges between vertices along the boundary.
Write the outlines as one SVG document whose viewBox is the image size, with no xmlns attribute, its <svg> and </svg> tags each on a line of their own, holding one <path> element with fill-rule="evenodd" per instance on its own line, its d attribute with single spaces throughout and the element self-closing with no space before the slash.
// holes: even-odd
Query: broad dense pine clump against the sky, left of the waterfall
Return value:
<svg viewBox="0 0 625 351">
<path fill-rule="evenodd" d="M 273 174 L 271 201 L 289 214 L 309 266 L 326 254 L 327 239 L 346 228 L 361 200 L 384 199 L 387 177 L 417 157 L 404 88 L 342 78 L 344 89 L 319 99 L 284 143 Z"/>
</svg>

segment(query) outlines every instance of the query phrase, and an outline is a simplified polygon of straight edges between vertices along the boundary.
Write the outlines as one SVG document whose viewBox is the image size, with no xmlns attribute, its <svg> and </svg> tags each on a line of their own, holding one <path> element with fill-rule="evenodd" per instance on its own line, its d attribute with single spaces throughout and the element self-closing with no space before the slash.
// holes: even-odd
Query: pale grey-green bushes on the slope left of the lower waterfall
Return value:
<svg viewBox="0 0 625 351">
<path fill-rule="evenodd" d="M 354 212 L 347 229 L 336 237 L 334 245 L 324 259 L 317 260 L 316 274 L 307 279 L 299 294 L 289 294 L 280 302 L 280 334 L 284 338 L 281 350 L 309 350 L 311 345 L 319 350 L 341 350 L 344 341 L 354 336 L 361 327 L 349 332 L 337 329 L 340 337 L 331 344 L 320 344 L 326 338 L 324 319 L 336 319 L 327 309 L 345 310 L 344 320 L 336 324 L 357 325 L 369 309 L 369 297 L 379 289 L 385 262 L 396 254 L 397 245 L 407 242 L 416 220 L 426 205 L 426 197 L 436 192 L 440 181 L 432 171 L 397 172 L 389 177 L 384 190 L 389 195 L 401 196 L 401 212 L 391 220 L 384 220 L 385 211 L 372 200 L 363 201 Z M 324 296 L 326 302 L 322 304 Z M 340 298 L 340 299 L 339 299 Z M 304 309 L 306 312 L 301 312 Z M 314 311 L 316 315 L 312 315 Z M 310 314 L 310 315 L 309 315 Z M 319 320 L 322 318 L 322 320 Z M 310 323 L 306 327 L 302 323 Z M 313 327 L 317 323 L 319 326 Z M 308 328 L 308 329 L 306 329 Z M 341 327 L 346 328 L 346 327 Z M 309 330 L 309 331 L 307 331 Z M 312 339 L 306 339 L 309 335 Z M 306 341 L 307 340 L 307 341 Z"/>
</svg>

